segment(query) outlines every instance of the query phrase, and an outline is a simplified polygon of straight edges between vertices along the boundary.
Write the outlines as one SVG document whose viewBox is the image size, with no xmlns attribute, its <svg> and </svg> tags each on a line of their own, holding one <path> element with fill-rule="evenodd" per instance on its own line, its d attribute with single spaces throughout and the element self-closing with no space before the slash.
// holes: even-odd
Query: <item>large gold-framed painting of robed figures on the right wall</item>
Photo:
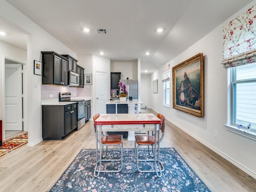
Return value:
<svg viewBox="0 0 256 192">
<path fill-rule="evenodd" d="M 202 53 L 172 68 L 172 107 L 197 117 L 204 117 Z"/>
</svg>

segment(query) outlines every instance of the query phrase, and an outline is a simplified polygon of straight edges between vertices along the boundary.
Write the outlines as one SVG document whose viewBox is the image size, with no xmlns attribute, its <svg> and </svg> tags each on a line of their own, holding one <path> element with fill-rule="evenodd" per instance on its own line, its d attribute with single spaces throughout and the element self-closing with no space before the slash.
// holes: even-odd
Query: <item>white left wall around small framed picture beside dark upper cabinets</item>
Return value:
<svg viewBox="0 0 256 192">
<path fill-rule="evenodd" d="M 54 51 L 59 54 L 77 55 L 56 40 L 24 14 L 5 0 L 0 1 L 0 16 L 6 18 L 28 34 L 27 64 L 24 68 L 25 87 L 25 126 L 29 132 L 28 146 L 34 146 L 42 140 L 41 92 L 42 77 L 33 74 L 34 60 L 42 61 L 41 51 Z M 34 86 L 37 85 L 37 87 Z M 3 98 L 0 98 L 3 100 Z"/>
</svg>

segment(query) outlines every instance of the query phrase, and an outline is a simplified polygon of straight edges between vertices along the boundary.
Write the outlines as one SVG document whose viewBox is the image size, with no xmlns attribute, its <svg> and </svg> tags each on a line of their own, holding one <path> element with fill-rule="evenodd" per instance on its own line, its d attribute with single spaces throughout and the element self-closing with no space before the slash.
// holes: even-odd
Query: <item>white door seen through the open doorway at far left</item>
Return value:
<svg viewBox="0 0 256 192">
<path fill-rule="evenodd" d="M 19 131 L 22 128 L 22 64 L 5 64 L 4 128 Z"/>
</svg>

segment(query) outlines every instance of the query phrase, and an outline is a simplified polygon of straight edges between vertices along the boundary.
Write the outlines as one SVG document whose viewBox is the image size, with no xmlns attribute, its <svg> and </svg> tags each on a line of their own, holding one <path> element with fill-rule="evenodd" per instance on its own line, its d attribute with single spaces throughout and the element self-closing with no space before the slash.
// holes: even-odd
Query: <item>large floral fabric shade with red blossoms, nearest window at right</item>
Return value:
<svg viewBox="0 0 256 192">
<path fill-rule="evenodd" d="M 223 27 L 225 68 L 256 62 L 256 6 Z"/>
</svg>

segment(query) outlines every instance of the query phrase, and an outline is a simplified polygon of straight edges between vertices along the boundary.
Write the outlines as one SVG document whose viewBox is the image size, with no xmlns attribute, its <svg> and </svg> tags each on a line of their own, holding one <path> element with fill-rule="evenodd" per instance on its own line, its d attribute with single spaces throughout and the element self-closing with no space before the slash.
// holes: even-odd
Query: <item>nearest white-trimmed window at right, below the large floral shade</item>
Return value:
<svg viewBox="0 0 256 192">
<path fill-rule="evenodd" d="M 231 124 L 256 131 L 256 63 L 232 68 Z M 249 131 L 249 130 L 248 130 Z"/>
</svg>

